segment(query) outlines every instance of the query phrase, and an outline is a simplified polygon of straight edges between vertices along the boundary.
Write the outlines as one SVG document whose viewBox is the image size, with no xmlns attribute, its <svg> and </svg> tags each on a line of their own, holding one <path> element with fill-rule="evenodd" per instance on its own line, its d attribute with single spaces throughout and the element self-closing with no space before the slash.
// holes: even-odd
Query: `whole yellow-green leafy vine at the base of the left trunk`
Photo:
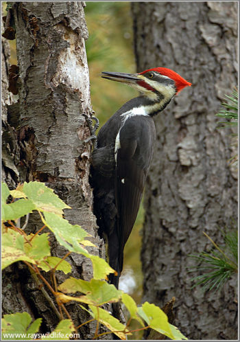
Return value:
<svg viewBox="0 0 240 342">
<path fill-rule="evenodd" d="M 10 196 L 12 201 L 9 200 Z M 105 260 L 88 252 L 86 247 L 95 247 L 95 244 L 88 240 L 91 236 L 79 225 L 71 225 L 68 220 L 63 218 L 63 209 L 65 208 L 70 209 L 44 183 L 19 184 L 16 190 L 12 191 L 5 183 L 2 183 L 2 268 L 5 269 L 10 264 L 19 261 L 28 266 L 39 290 L 42 291 L 60 320 L 56 329 L 51 333 L 62 334 L 61 339 L 69 339 L 72 332 L 77 334 L 77 331 L 83 326 L 91 321 L 96 321 L 94 339 L 98 339 L 103 334 L 114 333 L 119 339 L 125 340 L 126 335 L 148 328 L 165 334 L 169 339 L 186 339 L 175 326 L 169 324 L 167 315 L 158 306 L 145 302 L 141 307 L 137 307 L 132 297 L 106 282 L 108 274 L 115 273 L 115 271 Z M 36 233 L 27 235 L 23 228 L 27 225 L 28 220 L 25 220 L 23 227 L 20 227 L 20 218 L 29 216 L 34 211 L 38 212 L 43 226 Z M 49 233 L 43 233 L 43 229 L 46 228 L 52 231 L 59 244 L 67 249 L 63 258 L 51 255 Z M 71 272 L 71 264 L 66 260 L 71 252 L 80 253 L 91 259 L 93 279 L 90 282 L 69 277 L 62 284 L 58 284 L 56 272 L 65 274 Z M 51 273 L 50 280 L 46 279 L 42 271 Z M 49 296 L 48 292 L 53 295 L 54 299 Z M 74 297 L 75 293 L 82 295 Z M 79 303 L 82 310 L 86 310 L 92 319 L 75 327 L 71 315 L 64 306 L 69 301 Z M 128 309 L 130 320 L 136 319 L 139 322 L 141 326 L 139 329 L 129 330 L 130 320 L 125 326 L 103 308 L 104 304 L 117 302 L 121 302 Z M 87 304 L 88 309 L 82 304 Z M 42 319 L 36 319 L 29 326 L 31 321 L 27 312 L 4 315 L 2 338 L 15 339 L 19 338 L 17 334 L 25 334 L 24 339 L 49 339 L 49 337 L 38 333 Z M 109 332 L 99 333 L 100 324 L 106 326 Z M 56 339 L 58 337 L 59 335 Z"/>
</svg>

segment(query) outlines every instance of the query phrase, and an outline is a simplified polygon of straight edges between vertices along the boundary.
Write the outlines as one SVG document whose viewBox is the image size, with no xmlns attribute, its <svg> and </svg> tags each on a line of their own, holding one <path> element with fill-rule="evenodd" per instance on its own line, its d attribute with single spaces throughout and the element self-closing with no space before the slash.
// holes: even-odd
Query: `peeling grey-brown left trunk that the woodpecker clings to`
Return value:
<svg viewBox="0 0 240 342">
<path fill-rule="evenodd" d="M 88 183 L 92 143 L 84 142 L 90 130 L 82 114 L 91 116 L 91 101 L 84 45 L 88 31 L 83 7 L 80 1 L 13 3 L 19 101 L 9 106 L 9 100 L 6 101 L 9 95 L 5 95 L 3 180 L 10 187 L 19 181 L 45 182 L 72 207 L 65 211 L 65 218 L 82 225 L 93 236 L 99 249 L 92 248 L 91 252 L 104 257 L 104 243 L 97 235 L 93 194 Z M 7 69 L 3 71 L 7 73 Z M 3 82 L 7 80 L 4 78 Z M 30 218 L 27 233 L 40 228 L 38 219 Z M 53 236 L 51 244 L 53 255 L 65 255 L 66 250 Z M 67 261 L 73 267 L 73 277 L 90 280 L 92 265 L 88 258 L 72 253 Z M 65 278 L 58 275 L 59 283 Z M 78 304 L 66 307 L 75 326 L 89 319 Z M 58 317 L 28 269 L 17 263 L 3 273 L 3 314 L 22 311 L 29 312 L 34 319 L 43 317 L 41 332 L 49 332 L 58 324 Z M 80 330 L 80 339 L 91 339 L 94 332 L 95 322 Z M 110 338 L 110 335 L 103 337 Z"/>
</svg>

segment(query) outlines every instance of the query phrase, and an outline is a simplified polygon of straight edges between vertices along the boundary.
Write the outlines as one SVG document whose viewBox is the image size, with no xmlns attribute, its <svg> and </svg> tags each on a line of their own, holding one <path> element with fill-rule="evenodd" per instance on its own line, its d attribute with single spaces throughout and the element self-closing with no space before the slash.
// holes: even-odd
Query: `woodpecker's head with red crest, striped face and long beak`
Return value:
<svg viewBox="0 0 240 342">
<path fill-rule="evenodd" d="M 184 80 L 178 73 L 163 67 L 147 69 L 141 73 L 103 71 L 101 77 L 128 84 L 152 100 L 165 98 L 166 102 L 184 87 L 191 87 L 191 83 Z"/>
</svg>

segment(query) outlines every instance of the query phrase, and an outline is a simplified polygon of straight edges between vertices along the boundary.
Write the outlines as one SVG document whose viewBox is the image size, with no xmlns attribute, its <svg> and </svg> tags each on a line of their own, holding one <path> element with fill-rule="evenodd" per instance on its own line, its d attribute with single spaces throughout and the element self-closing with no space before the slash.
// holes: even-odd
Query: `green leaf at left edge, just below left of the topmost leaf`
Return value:
<svg viewBox="0 0 240 342">
<path fill-rule="evenodd" d="M 34 209 L 36 209 L 34 203 L 28 199 L 21 198 L 19 201 L 14 203 L 5 204 L 2 206 L 2 220 L 16 220 L 26 214 L 31 213 Z"/>
</svg>

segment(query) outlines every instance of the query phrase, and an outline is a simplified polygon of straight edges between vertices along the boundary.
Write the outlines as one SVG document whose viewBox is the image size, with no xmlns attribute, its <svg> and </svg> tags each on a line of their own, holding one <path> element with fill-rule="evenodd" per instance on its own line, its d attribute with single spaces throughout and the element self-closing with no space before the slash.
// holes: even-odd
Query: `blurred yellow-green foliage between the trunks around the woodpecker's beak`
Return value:
<svg viewBox="0 0 240 342">
<path fill-rule="evenodd" d="M 100 77 L 101 71 L 135 71 L 130 3 L 86 1 L 85 14 L 91 99 L 102 125 L 137 94 L 128 86 Z"/>
</svg>

